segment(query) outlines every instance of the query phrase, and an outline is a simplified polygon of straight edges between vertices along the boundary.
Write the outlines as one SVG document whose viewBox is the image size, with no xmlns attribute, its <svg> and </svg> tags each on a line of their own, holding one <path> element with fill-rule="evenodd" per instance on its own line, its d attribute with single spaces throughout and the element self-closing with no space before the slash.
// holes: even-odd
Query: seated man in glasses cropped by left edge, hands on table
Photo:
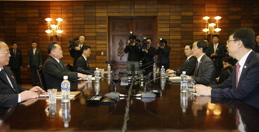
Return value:
<svg viewBox="0 0 259 132">
<path fill-rule="evenodd" d="M 9 108 L 31 98 L 38 98 L 39 93 L 45 92 L 40 87 L 32 89 L 17 85 L 12 71 L 5 67 L 9 64 L 10 51 L 6 43 L 0 41 L 0 108 Z"/>
</svg>

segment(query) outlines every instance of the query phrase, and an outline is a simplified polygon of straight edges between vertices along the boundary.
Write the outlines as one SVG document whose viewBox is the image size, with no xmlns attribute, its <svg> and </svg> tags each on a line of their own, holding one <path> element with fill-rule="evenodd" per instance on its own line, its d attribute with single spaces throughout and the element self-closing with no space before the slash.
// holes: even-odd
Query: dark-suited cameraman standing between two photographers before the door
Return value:
<svg viewBox="0 0 259 132">
<path fill-rule="evenodd" d="M 149 42 L 147 43 L 147 47 L 143 48 L 143 45 L 142 45 L 142 51 L 144 52 L 143 53 L 143 56 L 144 56 L 144 64 L 147 64 L 147 65 L 144 65 L 144 68 L 146 68 L 146 75 L 150 72 L 153 72 L 153 67 L 150 66 L 150 65 L 154 65 L 154 59 L 153 57 L 155 56 L 155 47 L 152 47 L 152 39 L 151 38 L 147 38 L 146 42 Z M 143 68 L 143 69 L 144 69 Z"/>
</svg>

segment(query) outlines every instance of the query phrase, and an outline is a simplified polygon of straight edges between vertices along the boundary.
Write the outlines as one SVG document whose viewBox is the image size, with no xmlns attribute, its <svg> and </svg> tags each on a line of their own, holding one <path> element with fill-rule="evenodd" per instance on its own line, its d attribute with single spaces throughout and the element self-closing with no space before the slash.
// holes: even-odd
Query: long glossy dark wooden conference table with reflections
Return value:
<svg viewBox="0 0 259 132">
<path fill-rule="evenodd" d="M 120 75 L 125 76 L 125 75 Z M 155 73 L 155 77 L 160 74 Z M 104 74 L 107 77 L 107 74 Z M 154 76 L 153 76 L 154 77 Z M 152 76 L 151 76 L 152 79 Z M 94 81 L 77 81 L 80 95 L 70 100 L 70 109 L 64 115 L 61 100 L 57 99 L 54 113 L 45 111 L 45 98 L 28 100 L 0 114 L 0 131 L 258 131 L 259 109 L 239 100 L 195 96 L 181 93 L 180 84 L 160 79 L 151 81 L 147 88 L 159 89 L 157 98 L 120 98 L 115 105 L 89 105 L 86 100 L 98 94 L 114 91 L 114 84 L 104 78 L 100 87 Z M 143 82 L 145 84 L 145 82 Z M 72 85 L 71 85 L 72 86 Z M 128 95 L 131 84 L 116 83 L 117 92 Z M 131 95 L 144 86 L 134 81 Z M 128 104 L 128 110 L 125 108 Z M 53 112 L 53 111 L 52 111 Z M 68 124 L 64 125 L 66 122 Z"/>
</svg>

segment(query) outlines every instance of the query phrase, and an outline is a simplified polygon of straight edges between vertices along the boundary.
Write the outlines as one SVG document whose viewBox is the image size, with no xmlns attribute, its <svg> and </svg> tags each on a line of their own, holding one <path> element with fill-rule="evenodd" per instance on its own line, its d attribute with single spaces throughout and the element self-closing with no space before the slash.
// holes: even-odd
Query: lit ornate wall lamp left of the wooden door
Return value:
<svg viewBox="0 0 259 132">
<path fill-rule="evenodd" d="M 57 25 L 54 25 L 54 24 L 50 23 L 50 21 L 52 21 L 51 18 L 46 18 L 45 20 L 47 21 L 47 26 L 48 26 L 48 30 L 46 30 L 45 32 L 47 33 L 47 37 L 49 38 L 49 42 L 50 42 L 51 36 L 53 36 L 53 42 L 56 41 L 56 36 L 59 38 L 59 42 L 60 42 L 60 38 L 62 37 L 61 33 L 63 32 L 62 30 L 60 30 L 60 28 L 61 28 L 61 21 L 63 21 L 63 19 L 57 18 L 56 19 L 56 21 L 58 21 Z M 50 27 L 51 27 L 51 30 L 50 30 Z"/>
</svg>

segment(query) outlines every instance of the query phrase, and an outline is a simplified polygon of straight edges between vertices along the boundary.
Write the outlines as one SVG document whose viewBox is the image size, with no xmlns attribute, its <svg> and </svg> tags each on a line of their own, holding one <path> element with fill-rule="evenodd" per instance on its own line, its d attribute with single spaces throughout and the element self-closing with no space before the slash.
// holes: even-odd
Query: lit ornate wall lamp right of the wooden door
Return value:
<svg viewBox="0 0 259 132">
<path fill-rule="evenodd" d="M 211 34 L 211 37 L 212 37 L 212 34 L 219 34 L 220 32 L 220 28 L 219 28 L 219 23 L 220 23 L 220 19 L 221 17 L 220 16 L 216 16 L 214 17 L 214 19 L 216 20 L 215 23 L 208 23 L 208 20 L 209 20 L 209 17 L 208 16 L 205 16 L 202 18 L 203 20 L 205 20 L 205 29 L 202 29 L 202 31 L 205 33 L 205 38 L 207 38 L 208 34 Z M 217 28 L 215 28 L 214 26 L 217 25 Z M 208 28 L 207 28 L 208 27 Z M 214 31 L 216 33 L 214 33 Z"/>
</svg>

